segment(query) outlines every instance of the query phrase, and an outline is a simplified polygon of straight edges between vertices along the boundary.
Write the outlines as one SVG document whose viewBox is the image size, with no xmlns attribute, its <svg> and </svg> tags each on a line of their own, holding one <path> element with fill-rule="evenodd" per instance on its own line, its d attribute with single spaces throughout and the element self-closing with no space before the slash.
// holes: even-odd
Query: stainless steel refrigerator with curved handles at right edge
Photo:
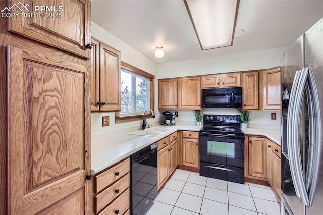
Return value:
<svg viewBox="0 0 323 215">
<path fill-rule="evenodd" d="M 323 214 L 323 18 L 281 58 L 281 214 Z"/>
</svg>

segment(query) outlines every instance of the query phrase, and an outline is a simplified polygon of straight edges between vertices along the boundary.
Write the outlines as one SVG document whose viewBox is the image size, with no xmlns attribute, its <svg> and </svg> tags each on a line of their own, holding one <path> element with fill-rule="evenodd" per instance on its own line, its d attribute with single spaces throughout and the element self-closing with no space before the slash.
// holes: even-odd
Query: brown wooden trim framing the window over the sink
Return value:
<svg viewBox="0 0 323 215">
<path fill-rule="evenodd" d="M 148 72 L 145 72 L 137 67 L 127 64 L 123 61 L 121 61 L 121 69 L 129 71 L 131 73 L 135 73 L 136 75 L 139 75 L 139 76 L 143 76 L 147 79 L 150 79 L 150 82 L 149 82 L 150 109 L 155 111 L 155 109 L 154 109 L 154 106 L 155 106 L 155 76 L 148 73 Z M 116 115 L 116 123 L 131 122 L 131 121 L 143 119 L 142 114 L 132 114 L 132 115 L 120 116 L 120 110 L 115 112 L 115 115 Z M 151 118 L 151 114 L 149 114 L 149 113 L 147 113 L 145 116 L 146 116 L 146 118 Z"/>
</svg>

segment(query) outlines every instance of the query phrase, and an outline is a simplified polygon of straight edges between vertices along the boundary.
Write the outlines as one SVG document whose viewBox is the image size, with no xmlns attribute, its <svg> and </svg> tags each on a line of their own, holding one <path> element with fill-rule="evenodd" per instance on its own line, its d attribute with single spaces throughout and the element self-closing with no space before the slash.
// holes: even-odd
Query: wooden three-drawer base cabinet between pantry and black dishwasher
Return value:
<svg viewBox="0 0 323 215">
<path fill-rule="evenodd" d="M 125 214 L 130 199 L 129 158 L 95 176 L 95 213 Z"/>
</svg>

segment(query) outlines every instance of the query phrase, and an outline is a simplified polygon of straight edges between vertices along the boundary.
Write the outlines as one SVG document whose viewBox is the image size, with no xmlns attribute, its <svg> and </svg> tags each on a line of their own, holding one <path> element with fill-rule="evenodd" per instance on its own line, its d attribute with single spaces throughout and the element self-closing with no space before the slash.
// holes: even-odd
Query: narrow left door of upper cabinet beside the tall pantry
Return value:
<svg viewBox="0 0 323 215">
<path fill-rule="evenodd" d="M 100 46 L 99 41 L 91 39 L 91 111 L 99 111 L 100 106 Z"/>
</svg>

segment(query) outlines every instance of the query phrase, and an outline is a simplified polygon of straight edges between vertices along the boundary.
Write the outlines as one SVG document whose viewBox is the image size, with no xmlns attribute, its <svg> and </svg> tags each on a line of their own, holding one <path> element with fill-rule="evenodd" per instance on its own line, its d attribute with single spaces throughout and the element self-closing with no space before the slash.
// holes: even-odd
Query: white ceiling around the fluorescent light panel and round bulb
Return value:
<svg viewBox="0 0 323 215">
<path fill-rule="evenodd" d="M 215 0 L 211 0 L 215 1 Z M 233 46 L 202 51 L 183 0 L 92 0 L 92 21 L 156 63 L 291 45 L 323 17 L 322 0 L 240 0 Z M 162 59 L 154 56 L 163 46 Z"/>
</svg>

